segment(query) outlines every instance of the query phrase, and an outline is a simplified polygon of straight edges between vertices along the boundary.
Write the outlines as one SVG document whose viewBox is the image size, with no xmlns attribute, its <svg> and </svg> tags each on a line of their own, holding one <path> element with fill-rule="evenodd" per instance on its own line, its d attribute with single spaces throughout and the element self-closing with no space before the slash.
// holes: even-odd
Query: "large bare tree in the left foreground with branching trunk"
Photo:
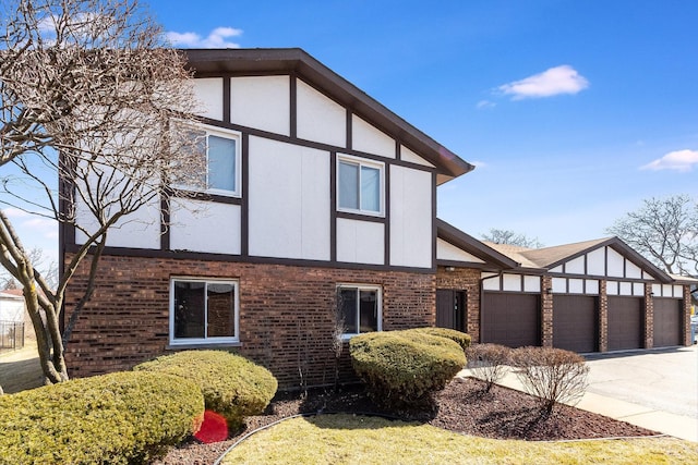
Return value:
<svg viewBox="0 0 698 465">
<path fill-rule="evenodd" d="M 24 291 L 47 382 L 60 382 L 68 370 L 59 315 L 79 265 L 88 262 L 89 277 L 65 339 L 94 292 L 109 230 L 167 200 L 170 186 L 201 179 L 201 144 L 181 130 L 194 123 L 193 89 L 184 58 L 136 0 L 1 8 L 0 264 Z M 84 236 L 56 286 L 36 272 L 8 207 Z"/>
</svg>

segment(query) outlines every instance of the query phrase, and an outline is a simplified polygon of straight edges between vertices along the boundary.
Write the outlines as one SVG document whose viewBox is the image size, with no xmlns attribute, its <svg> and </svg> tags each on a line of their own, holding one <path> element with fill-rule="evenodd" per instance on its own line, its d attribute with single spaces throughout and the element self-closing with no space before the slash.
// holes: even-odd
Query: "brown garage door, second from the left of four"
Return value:
<svg viewBox="0 0 698 465">
<path fill-rule="evenodd" d="M 553 346 L 575 352 L 598 351 L 597 297 L 553 296 Z"/>
</svg>

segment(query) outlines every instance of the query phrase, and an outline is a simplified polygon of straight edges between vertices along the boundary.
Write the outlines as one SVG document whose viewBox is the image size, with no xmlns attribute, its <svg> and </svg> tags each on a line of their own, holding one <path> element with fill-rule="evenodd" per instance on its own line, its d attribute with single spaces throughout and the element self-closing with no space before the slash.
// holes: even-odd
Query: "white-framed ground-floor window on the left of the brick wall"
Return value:
<svg viewBox="0 0 698 465">
<path fill-rule="evenodd" d="M 170 344 L 240 342 L 239 283 L 234 280 L 170 280 Z"/>
</svg>

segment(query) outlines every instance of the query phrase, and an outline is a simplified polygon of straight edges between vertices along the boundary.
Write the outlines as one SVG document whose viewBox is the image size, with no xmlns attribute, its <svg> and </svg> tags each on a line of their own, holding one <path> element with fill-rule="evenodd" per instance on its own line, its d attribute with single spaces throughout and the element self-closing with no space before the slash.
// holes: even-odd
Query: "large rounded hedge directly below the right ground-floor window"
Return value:
<svg viewBox="0 0 698 465">
<path fill-rule="evenodd" d="M 357 335 L 349 342 L 349 353 L 371 396 L 388 407 L 426 403 L 466 364 L 454 341 L 414 331 Z"/>
</svg>

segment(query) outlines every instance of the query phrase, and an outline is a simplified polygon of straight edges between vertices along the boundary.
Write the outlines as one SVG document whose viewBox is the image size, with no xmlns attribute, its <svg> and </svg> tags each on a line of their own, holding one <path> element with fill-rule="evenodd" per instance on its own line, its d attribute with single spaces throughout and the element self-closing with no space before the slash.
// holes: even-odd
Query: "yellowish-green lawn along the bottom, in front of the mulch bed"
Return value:
<svg viewBox="0 0 698 465">
<path fill-rule="evenodd" d="M 698 444 L 673 438 L 528 442 L 461 436 L 376 417 L 294 418 L 257 432 L 224 464 L 686 464 Z"/>
</svg>

